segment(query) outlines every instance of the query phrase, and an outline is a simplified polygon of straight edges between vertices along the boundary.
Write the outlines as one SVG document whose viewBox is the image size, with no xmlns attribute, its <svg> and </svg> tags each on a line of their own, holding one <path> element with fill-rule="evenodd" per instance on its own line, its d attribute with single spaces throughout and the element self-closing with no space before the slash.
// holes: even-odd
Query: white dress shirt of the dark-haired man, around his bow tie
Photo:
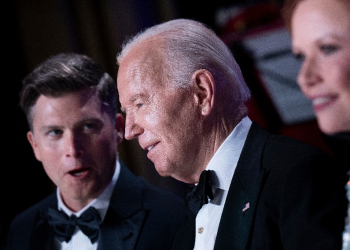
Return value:
<svg viewBox="0 0 350 250">
<path fill-rule="evenodd" d="M 117 183 L 118 177 L 120 174 L 120 163 L 117 160 L 116 168 L 112 177 L 112 181 L 108 184 L 106 189 L 93 201 L 91 201 L 87 206 L 81 209 L 78 212 L 71 211 L 62 201 L 60 190 L 57 188 L 57 200 L 58 200 L 58 210 L 64 211 L 68 216 L 74 214 L 79 217 L 85 210 L 89 207 L 94 207 L 100 214 L 101 220 L 103 221 L 108 207 L 109 202 Z M 89 237 L 87 237 L 78 227 L 76 227 L 75 232 L 71 238 L 71 240 L 67 243 L 65 241 L 60 242 L 57 237 L 55 237 L 53 241 L 53 249 L 56 250 L 96 250 L 98 242 L 96 241 L 94 244 L 91 243 Z"/>
</svg>

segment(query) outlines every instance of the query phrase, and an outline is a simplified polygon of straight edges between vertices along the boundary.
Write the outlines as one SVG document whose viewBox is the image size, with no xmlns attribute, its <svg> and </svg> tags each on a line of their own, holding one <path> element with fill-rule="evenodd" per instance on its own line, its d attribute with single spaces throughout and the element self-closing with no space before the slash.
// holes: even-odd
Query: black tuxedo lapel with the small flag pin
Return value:
<svg viewBox="0 0 350 250">
<path fill-rule="evenodd" d="M 268 133 L 252 124 L 237 164 L 221 216 L 215 250 L 244 250 L 266 173 L 261 158 Z"/>
</svg>

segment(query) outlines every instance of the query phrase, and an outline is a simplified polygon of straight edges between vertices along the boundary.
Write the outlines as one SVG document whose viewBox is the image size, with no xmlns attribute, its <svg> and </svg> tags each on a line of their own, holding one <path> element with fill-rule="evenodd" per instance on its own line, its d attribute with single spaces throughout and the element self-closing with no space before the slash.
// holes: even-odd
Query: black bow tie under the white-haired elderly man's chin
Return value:
<svg viewBox="0 0 350 250">
<path fill-rule="evenodd" d="M 212 170 L 204 170 L 199 177 L 198 185 L 191 185 L 186 191 L 187 206 L 195 215 L 204 204 L 208 203 L 208 197 L 210 199 L 214 198 L 210 184 L 210 174 L 213 172 Z"/>
</svg>

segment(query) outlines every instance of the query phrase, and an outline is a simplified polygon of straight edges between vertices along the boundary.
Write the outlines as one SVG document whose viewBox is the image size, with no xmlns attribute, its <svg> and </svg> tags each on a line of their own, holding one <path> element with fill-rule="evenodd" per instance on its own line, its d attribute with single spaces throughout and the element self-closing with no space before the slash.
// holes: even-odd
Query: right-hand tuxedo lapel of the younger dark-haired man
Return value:
<svg viewBox="0 0 350 250">
<path fill-rule="evenodd" d="M 121 163 L 121 171 L 101 224 L 98 250 L 135 248 L 146 211 L 142 208 L 142 188 L 138 179 Z"/>
</svg>

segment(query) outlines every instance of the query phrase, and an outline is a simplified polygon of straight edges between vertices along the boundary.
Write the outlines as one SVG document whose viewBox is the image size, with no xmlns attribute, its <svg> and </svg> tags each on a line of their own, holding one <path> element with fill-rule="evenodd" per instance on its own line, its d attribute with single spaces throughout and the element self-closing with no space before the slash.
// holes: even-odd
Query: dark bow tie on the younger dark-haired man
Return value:
<svg viewBox="0 0 350 250">
<path fill-rule="evenodd" d="M 80 217 L 75 215 L 68 217 L 64 212 L 52 208 L 49 208 L 47 215 L 48 223 L 61 242 L 70 241 L 76 226 L 90 238 L 92 244 L 98 239 L 101 217 L 93 207 L 89 207 Z"/>
</svg>

